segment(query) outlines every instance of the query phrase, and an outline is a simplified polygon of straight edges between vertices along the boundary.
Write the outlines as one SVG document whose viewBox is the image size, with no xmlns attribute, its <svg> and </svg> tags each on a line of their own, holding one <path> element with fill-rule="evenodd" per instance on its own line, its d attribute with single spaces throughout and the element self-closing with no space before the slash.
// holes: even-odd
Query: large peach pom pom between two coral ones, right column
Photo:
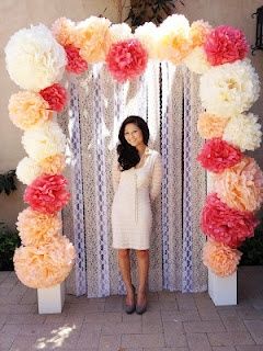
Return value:
<svg viewBox="0 0 263 351">
<path fill-rule="evenodd" d="M 215 174 L 214 188 L 229 207 L 254 212 L 263 200 L 263 174 L 253 158 L 243 157 L 238 165 Z"/>
</svg>

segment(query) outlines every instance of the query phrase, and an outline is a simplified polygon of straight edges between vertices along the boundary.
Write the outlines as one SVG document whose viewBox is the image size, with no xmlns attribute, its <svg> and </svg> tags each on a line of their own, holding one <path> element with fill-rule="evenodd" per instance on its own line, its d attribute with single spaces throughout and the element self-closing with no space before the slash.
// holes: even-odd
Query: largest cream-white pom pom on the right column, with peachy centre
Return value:
<svg viewBox="0 0 263 351">
<path fill-rule="evenodd" d="M 249 60 L 213 67 L 201 77 L 199 97 L 207 112 L 235 116 L 258 100 L 260 81 Z"/>
</svg>

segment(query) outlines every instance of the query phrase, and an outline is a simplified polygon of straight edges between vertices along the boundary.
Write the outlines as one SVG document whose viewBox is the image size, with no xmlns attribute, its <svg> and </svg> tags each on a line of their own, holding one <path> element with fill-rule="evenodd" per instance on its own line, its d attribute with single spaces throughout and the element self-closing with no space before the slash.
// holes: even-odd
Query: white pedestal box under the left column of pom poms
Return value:
<svg viewBox="0 0 263 351">
<path fill-rule="evenodd" d="M 65 303 L 65 282 L 37 288 L 38 314 L 60 314 Z"/>
</svg>

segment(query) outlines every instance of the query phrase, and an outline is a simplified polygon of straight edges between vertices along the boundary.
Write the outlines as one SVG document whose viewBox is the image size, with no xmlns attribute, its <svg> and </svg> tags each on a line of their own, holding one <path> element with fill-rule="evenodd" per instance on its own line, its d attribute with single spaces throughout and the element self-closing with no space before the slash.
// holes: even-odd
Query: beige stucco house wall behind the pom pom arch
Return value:
<svg viewBox="0 0 263 351">
<path fill-rule="evenodd" d="M 124 2 L 124 0 L 123 0 Z M 128 1 L 125 1 L 128 5 Z M 251 44 L 255 38 L 255 20 L 251 14 L 262 5 L 262 0 L 184 0 L 184 5 L 176 5 L 178 12 L 183 13 L 190 22 L 195 20 L 208 21 L 213 26 L 229 24 L 241 29 Z M 67 16 L 79 21 L 91 14 L 102 14 L 112 22 L 118 22 L 119 18 L 118 0 L 1 0 L 0 1 L 0 45 L 3 48 L 9 37 L 18 30 L 38 24 L 39 22 L 50 25 L 57 18 Z M 126 13 L 125 13 L 126 12 Z M 123 12 L 123 20 L 127 10 Z M 250 58 L 263 81 L 263 52 L 256 52 Z M 13 126 L 8 117 L 8 101 L 12 93 L 19 88 L 10 80 L 4 65 L 4 53 L 0 52 L 0 116 L 1 116 L 1 138 L 0 138 L 0 173 L 9 169 L 14 169 L 18 162 L 25 156 L 21 146 L 22 133 Z M 252 112 L 263 115 L 263 99 L 252 107 Z M 263 168 L 262 148 L 253 152 Z M 19 184 L 19 190 L 10 196 L 0 195 L 0 220 L 3 219 L 14 224 L 18 213 L 23 208 L 23 186 Z"/>
</svg>

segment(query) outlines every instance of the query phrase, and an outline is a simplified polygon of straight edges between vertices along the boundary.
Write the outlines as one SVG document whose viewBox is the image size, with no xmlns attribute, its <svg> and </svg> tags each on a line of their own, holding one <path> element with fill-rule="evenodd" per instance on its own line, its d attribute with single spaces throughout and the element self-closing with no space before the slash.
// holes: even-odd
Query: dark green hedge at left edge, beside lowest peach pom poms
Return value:
<svg viewBox="0 0 263 351">
<path fill-rule="evenodd" d="M 16 230 L 0 222 L 0 271 L 13 271 L 13 254 L 21 245 Z"/>
</svg>

